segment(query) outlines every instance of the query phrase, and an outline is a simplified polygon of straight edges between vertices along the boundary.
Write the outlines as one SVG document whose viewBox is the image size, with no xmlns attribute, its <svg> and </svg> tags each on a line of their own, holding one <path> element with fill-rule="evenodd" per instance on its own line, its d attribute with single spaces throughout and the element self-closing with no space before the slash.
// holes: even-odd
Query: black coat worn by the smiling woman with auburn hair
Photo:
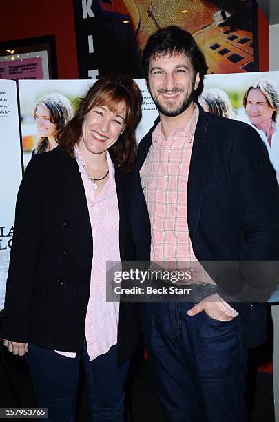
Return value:
<svg viewBox="0 0 279 422">
<path fill-rule="evenodd" d="M 116 168 L 115 181 L 120 256 L 132 260 L 134 243 L 128 216 L 132 174 Z M 81 352 L 92 253 L 90 218 L 76 160 L 59 147 L 35 155 L 17 197 L 1 336 L 53 350 Z M 121 338 L 130 335 L 126 332 L 129 323 L 129 317 L 127 326 L 125 321 L 121 323 Z M 129 354 L 130 350 L 119 348 L 119 361 Z"/>
</svg>

